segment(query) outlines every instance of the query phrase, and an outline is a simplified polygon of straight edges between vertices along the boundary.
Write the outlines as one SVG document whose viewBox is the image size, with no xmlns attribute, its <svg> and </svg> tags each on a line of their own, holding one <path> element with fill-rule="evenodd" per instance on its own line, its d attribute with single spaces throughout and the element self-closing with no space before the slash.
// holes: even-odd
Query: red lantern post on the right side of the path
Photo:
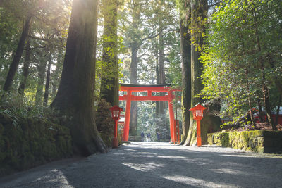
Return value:
<svg viewBox="0 0 282 188">
<path fill-rule="evenodd" d="M 201 137 L 201 120 L 204 118 L 204 110 L 206 107 L 202 106 L 200 103 L 196 104 L 189 111 L 193 112 L 193 119 L 197 121 L 197 146 L 202 146 L 202 137 Z"/>
</svg>

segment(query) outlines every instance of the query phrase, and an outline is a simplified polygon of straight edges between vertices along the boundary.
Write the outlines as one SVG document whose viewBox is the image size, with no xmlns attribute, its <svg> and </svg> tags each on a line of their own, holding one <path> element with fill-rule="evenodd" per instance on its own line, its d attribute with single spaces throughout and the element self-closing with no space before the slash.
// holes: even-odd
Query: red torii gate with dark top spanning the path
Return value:
<svg viewBox="0 0 282 188">
<path fill-rule="evenodd" d="M 120 91 L 125 91 L 126 94 L 119 96 L 120 101 L 126 101 L 125 107 L 125 125 L 123 129 L 123 141 L 128 141 L 129 123 L 130 123 L 130 107 L 131 101 L 168 101 L 169 122 L 171 130 L 171 141 L 175 142 L 174 138 L 174 111 L 173 92 L 180 92 L 180 89 L 171 89 L 171 84 L 120 84 Z M 135 96 L 132 92 L 147 92 L 147 96 Z M 167 92 L 165 96 L 152 96 L 152 92 Z"/>
</svg>

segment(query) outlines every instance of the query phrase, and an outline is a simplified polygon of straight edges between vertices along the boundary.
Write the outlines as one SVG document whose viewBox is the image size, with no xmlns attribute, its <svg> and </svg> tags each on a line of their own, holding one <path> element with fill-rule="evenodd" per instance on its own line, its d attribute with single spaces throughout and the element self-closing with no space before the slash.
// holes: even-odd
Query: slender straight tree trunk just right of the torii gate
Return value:
<svg viewBox="0 0 282 188">
<path fill-rule="evenodd" d="M 180 52 L 182 68 L 182 131 L 183 141 L 185 141 L 190 125 L 191 108 L 191 44 L 190 44 L 190 4 L 185 4 L 188 15 L 184 19 L 180 18 Z M 188 6 L 188 7 L 187 7 Z"/>
</svg>

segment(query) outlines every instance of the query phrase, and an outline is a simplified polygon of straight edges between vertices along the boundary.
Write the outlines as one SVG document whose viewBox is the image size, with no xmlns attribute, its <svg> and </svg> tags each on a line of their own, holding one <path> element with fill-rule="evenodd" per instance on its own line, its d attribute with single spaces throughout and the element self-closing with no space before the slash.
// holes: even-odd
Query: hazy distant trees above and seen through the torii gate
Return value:
<svg viewBox="0 0 282 188">
<path fill-rule="evenodd" d="M 119 30 L 130 57 L 127 58 L 127 54 L 124 54 L 125 58 L 122 59 L 123 80 L 143 84 L 168 82 L 179 84 L 180 42 L 175 2 L 169 0 L 124 2 L 122 11 L 119 12 L 121 17 Z M 159 125 L 167 126 L 166 102 L 155 103 Z M 137 128 L 135 104 L 137 102 L 133 101 L 131 106 L 130 134 L 135 134 Z M 142 118 L 141 113 L 138 115 Z M 145 120 L 143 122 L 146 124 Z"/>
</svg>

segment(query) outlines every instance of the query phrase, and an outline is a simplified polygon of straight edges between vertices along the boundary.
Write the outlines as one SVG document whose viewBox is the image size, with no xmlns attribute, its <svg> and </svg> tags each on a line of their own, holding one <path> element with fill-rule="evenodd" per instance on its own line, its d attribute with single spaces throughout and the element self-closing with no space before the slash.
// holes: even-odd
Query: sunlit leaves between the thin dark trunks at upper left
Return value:
<svg viewBox="0 0 282 188">
<path fill-rule="evenodd" d="M 30 30 L 31 57 L 26 89 L 27 96 L 35 96 L 37 87 L 37 67 L 51 60 L 51 87 L 49 93 L 54 96 L 61 77 L 61 67 L 68 35 L 68 24 L 71 13 L 71 0 L 66 1 L 5 1 L 0 8 L 0 87 L 3 87 L 9 65 L 15 54 L 18 39 L 23 30 L 23 23 L 32 13 Z M 25 52 L 24 52 L 25 54 Z M 49 58 L 51 56 L 51 59 Z M 23 60 L 20 61 L 22 63 Z M 46 65 L 45 65 L 46 66 Z M 45 68 L 44 68 L 45 69 Z M 53 71 L 54 70 L 54 71 Z M 13 79 L 13 90 L 23 80 L 23 65 L 19 65 Z M 45 71 L 43 75 L 45 79 Z M 40 86 L 43 87 L 43 86 Z M 42 98 L 43 96 L 39 96 Z"/>
</svg>

